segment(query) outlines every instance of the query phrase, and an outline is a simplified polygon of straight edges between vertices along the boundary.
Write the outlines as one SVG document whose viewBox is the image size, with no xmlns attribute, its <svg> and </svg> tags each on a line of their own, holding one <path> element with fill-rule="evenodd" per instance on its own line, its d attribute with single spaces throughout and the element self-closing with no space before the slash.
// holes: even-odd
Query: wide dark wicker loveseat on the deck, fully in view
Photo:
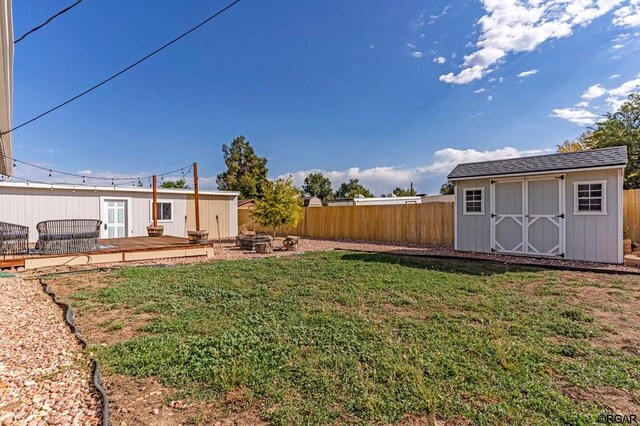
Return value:
<svg viewBox="0 0 640 426">
<path fill-rule="evenodd" d="M 100 249 L 101 220 L 64 219 L 38 223 L 38 243 L 41 254 L 83 253 Z"/>
</svg>

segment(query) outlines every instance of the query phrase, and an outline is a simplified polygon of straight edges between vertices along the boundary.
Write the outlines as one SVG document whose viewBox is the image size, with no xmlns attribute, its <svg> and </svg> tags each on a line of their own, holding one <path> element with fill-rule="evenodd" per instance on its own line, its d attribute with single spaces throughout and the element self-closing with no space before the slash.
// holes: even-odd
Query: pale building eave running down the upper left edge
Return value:
<svg viewBox="0 0 640 426">
<path fill-rule="evenodd" d="M 11 130 L 13 113 L 13 17 L 11 0 L 0 0 L 0 133 Z M 0 173 L 11 176 L 11 133 L 0 137 Z"/>
</svg>

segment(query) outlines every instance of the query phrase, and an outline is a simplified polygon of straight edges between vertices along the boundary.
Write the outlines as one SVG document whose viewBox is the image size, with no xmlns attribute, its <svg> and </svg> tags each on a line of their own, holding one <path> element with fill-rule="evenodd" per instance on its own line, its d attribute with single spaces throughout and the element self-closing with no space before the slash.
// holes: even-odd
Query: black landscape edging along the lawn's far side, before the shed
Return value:
<svg viewBox="0 0 640 426">
<path fill-rule="evenodd" d="M 640 275 L 640 270 L 621 271 L 618 269 L 606 269 L 606 268 L 597 268 L 597 267 L 590 268 L 588 266 L 571 266 L 571 265 L 557 265 L 557 264 L 539 265 L 539 264 L 527 263 L 527 262 L 517 262 L 517 261 L 514 262 L 511 259 L 501 261 L 496 259 L 485 259 L 481 257 L 465 257 L 462 255 L 456 256 L 453 254 L 396 253 L 392 251 L 360 250 L 360 249 L 345 249 L 345 248 L 334 248 L 334 250 L 371 253 L 371 254 L 386 254 L 388 256 L 421 257 L 421 258 L 433 258 L 433 259 L 442 259 L 442 260 L 462 260 L 465 262 L 489 262 L 497 265 L 522 266 L 522 267 L 538 268 L 538 269 L 555 269 L 559 271 L 595 272 L 595 273 L 610 274 L 610 275 Z M 408 249 L 408 250 L 411 250 L 411 249 Z"/>
</svg>

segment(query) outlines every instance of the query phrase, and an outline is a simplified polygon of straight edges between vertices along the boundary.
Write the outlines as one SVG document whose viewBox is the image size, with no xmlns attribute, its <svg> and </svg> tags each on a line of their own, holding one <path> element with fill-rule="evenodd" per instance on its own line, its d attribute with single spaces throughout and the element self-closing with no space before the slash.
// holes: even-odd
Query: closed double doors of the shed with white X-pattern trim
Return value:
<svg viewBox="0 0 640 426">
<path fill-rule="evenodd" d="M 491 251 L 564 256 L 564 176 L 491 181 Z"/>
</svg>

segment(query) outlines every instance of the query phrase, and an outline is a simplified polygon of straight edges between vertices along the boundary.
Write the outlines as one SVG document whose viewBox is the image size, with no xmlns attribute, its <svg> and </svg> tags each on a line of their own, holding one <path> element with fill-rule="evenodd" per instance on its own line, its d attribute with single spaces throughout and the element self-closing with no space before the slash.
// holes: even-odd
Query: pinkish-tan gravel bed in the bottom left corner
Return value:
<svg viewBox="0 0 640 426">
<path fill-rule="evenodd" d="M 97 425 L 89 361 L 35 281 L 0 278 L 0 425 Z"/>
</svg>

